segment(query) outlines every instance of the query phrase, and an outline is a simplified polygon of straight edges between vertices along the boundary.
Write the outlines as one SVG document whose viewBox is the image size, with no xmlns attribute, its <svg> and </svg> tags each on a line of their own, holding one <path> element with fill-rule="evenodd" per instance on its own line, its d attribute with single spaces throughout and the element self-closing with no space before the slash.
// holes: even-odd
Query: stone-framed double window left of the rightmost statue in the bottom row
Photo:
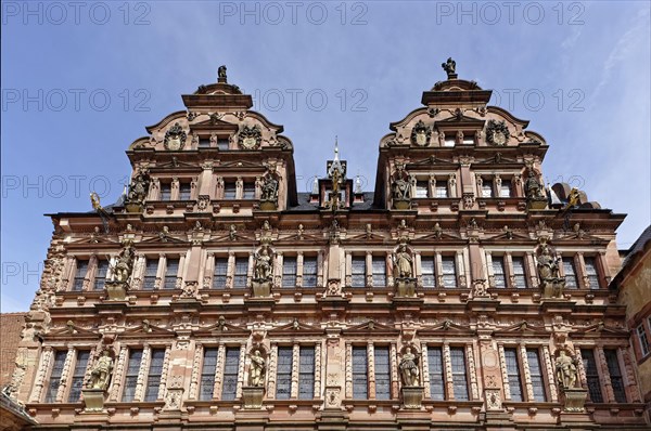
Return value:
<svg viewBox="0 0 651 431">
<path fill-rule="evenodd" d="M 518 364 L 518 373 L 520 378 L 520 390 L 522 392 L 522 401 L 511 400 L 510 383 L 507 374 L 505 350 L 511 349 L 515 351 L 515 360 Z M 540 366 L 540 377 L 542 379 L 541 388 L 545 395 L 545 401 L 535 399 L 534 384 L 532 381 L 531 367 L 528 364 L 527 351 L 536 350 L 538 354 L 538 363 Z M 514 342 L 514 341 L 498 341 L 498 352 L 500 358 L 500 367 L 502 370 L 502 387 L 505 388 L 505 401 L 512 403 L 547 403 L 557 402 L 558 394 L 556 392 L 556 370 L 552 365 L 552 358 L 549 347 L 545 342 Z"/>
</svg>

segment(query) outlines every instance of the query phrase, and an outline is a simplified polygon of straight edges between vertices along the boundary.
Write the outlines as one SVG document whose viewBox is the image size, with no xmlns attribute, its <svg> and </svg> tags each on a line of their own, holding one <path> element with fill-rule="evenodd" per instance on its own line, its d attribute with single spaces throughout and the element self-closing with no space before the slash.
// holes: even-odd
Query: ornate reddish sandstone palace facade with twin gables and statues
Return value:
<svg viewBox="0 0 651 431">
<path fill-rule="evenodd" d="M 118 203 L 51 214 L 7 393 L 42 430 L 643 427 L 624 216 L 545 186 L 542 135 L 443 67 L 373 191 L 335 149 L 311 193 L 220 67 Z"/>
</svg>

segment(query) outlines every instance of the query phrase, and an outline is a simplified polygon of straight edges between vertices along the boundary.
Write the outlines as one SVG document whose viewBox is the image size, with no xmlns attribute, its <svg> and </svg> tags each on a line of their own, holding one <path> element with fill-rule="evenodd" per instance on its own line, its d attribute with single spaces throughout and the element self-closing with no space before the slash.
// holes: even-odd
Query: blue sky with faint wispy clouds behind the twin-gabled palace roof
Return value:
<svg viewBox="0 0 651 431">
<path fill-rule="evenodd" d="M 379 140 L 460 78 L 531 120 L 549 182 L 628 213 L 618 247 L 650 223 L 650 3 L 2 2 L 1 310 L 27 310 L 52 233 L 43 213 L 88 211 L 130 173 L 127 146 L 216 80 L 284 125 L 298 190 L 339 135 L 348 172 L 374 184 Z"/>
</svg>

